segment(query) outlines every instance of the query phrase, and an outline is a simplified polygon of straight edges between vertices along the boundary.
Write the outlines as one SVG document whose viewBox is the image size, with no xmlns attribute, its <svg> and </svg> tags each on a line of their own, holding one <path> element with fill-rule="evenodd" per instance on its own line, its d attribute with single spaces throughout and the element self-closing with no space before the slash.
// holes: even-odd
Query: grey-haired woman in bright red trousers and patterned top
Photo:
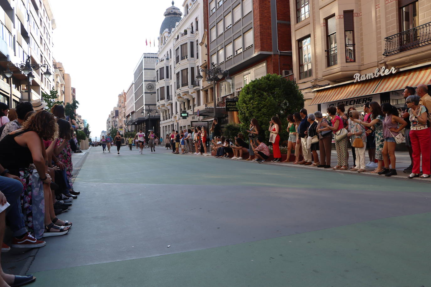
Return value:
<svg viewBox="0 0 431 287">
<path fill-rule="evenodd" d="M 421 178 L 426 179 L 431 174 L 431 133 L 427 123 L 428 113 L 425 106 L 419 105 L 420 99 L 416 95 L 408 96 L 406 99 L 411 123 L 410 140 L 413 148 L 413 169 L 412 173 L 407 176 L 409 179 L 418 177 L 421 172 L 421 154 L 423 171 Z"/>
</svg>

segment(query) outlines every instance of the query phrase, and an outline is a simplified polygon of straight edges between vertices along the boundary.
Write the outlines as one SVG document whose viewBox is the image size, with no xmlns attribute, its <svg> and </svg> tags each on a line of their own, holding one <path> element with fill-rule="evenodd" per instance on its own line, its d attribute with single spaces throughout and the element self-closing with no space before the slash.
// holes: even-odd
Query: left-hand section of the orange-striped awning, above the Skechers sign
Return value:
<svg viewBox="0 0 431 287">
<path fill-rule="evenodd" d="M 322 89 L 315 93 L 310 105 L 317 105 L 326 102 L 334 102 L 342 99 L 356 98 L 359 96 L 374 93 L 380 78 L 364 82 L 350 83 L 344 86 L 337 86 L 329 89 Z"/>
</svg>

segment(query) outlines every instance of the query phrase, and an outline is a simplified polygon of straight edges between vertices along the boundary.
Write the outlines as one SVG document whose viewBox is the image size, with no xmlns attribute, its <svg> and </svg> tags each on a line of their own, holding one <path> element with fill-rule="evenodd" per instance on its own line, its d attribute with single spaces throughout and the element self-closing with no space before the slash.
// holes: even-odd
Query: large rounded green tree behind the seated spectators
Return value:
<svg viewBox="0 0 431 287">
<path fill-rule="evenodd" d="M 269 121 L 278 115 L 281 120 L 281 141 L 287 139 L 287 115 L 304 107 L 304 97 L 295 82 L 277 74 L 267 74 L 253 80 L 241 90 L 237 102 L 241 130 L 248 130 L 250 120 L 256 118 L 269 140 Z"/>
</svg>

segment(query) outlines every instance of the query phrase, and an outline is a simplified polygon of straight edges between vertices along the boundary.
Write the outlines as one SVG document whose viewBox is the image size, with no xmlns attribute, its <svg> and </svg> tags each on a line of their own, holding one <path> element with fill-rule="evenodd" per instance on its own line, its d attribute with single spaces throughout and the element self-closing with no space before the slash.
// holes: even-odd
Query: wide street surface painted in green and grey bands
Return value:
<svg viewBox="0 0 431 287">
<path fill-rule="evenodd" d="M 431 282 L 428 181 L 96 147 L 74 187 L 32 287 Z"/>
</svg>

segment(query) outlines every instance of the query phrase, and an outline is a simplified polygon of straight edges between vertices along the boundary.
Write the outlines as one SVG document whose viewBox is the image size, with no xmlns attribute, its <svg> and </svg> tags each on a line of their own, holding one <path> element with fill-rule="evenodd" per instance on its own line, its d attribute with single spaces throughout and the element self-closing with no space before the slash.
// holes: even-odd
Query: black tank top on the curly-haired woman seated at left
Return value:
<svg viewBox="0 0 431 287">
<path fill-rule="evenodd" d="M 33 163 L 33 157 L 27 147 L 19 145 L 15 137 L 28 131 L 24 130 L 13 135 L 7 135 L 0 141 L 0 164 L 9 170 L 10 174 L 19 176 L 19 169 L 28 168 Z M 41 144 L 35 142 L 35 145 Z"/>
</svg>

